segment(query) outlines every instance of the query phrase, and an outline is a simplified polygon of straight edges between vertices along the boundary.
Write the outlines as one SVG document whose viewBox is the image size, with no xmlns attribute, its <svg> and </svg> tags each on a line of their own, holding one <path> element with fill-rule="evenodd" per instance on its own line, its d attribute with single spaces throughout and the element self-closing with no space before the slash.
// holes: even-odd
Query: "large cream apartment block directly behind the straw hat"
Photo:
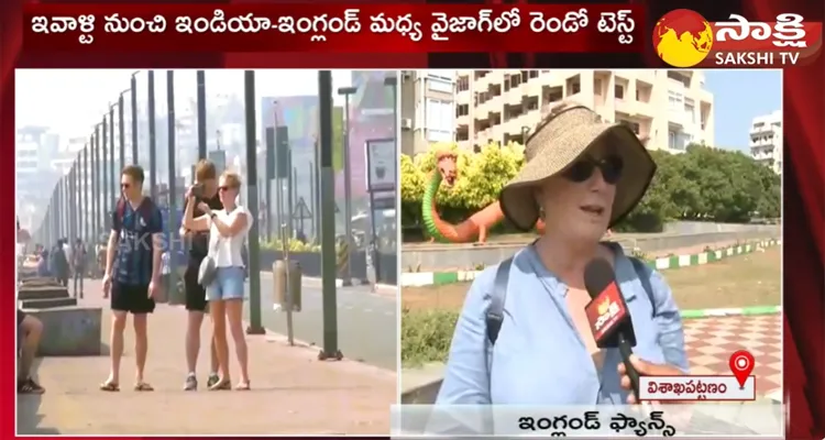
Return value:
<svg viewBox="0 0 825 440">
<path fill-rule="evenodd" d="M 455 141 L 466 148 L 521 143 L 564 100 L 627 123 L 651 150 L 714 144 L 713 95 L 704 88 L 704 73 L 689 69 L 459 70 Z"/>
</svg>

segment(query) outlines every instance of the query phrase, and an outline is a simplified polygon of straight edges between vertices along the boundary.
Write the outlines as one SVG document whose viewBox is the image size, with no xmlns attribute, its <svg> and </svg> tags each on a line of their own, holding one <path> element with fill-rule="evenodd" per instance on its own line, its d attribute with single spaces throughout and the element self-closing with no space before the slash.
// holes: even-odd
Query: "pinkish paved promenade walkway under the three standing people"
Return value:
<svg viewBox="0 0 825 440">
<path fill-rule="evenodd" d="M 85 305 L 105 306 L 103 339 L 111 328 L 99 282 L 87 282 Z M 205 322 L 202 341 L 210 332 Z M 158 305 L 150 317 L 146 381 L 155 392 L 132 391 L 134 339 L 125 336 L 121 391 L 98 389 L 107 356 L 46 358 L 36 376 L 43 396 L 18 398 L 20 435 L 353 435 L 389 432 L 396 402 L 395 372 L 354 361 L 320 362 L 317 348 L 288 346 L 275 334 L 250 336 L 251 392 L 208 392 L 208 351 L 199 365 L 200 389 L 184 392 L 186 374 L 182 307 Z M 106 343 L 106 342 L 105 342 Z M 106 343 L 108 345 L 108 343 Z M 108 353 L 108 346 L 106 346 Z M 232 349 L 230 340 L 230 350 Z M 233 356 L 233 354 L 231 354 Z M 237 380 L 238 365 L 232 361 Z"/>
</svg>

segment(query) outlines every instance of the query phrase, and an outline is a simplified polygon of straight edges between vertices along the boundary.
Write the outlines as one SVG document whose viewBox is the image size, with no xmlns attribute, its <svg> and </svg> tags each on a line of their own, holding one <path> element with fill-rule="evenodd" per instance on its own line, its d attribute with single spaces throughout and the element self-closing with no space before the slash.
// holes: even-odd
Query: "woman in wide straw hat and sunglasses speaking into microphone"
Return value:
<svg viewBox="0 0 825 440">
<path fill-rule="evenodd" d="M 473 282 L 437 404 L 634 403 L 618 350 L 596 346 L 584 312 L 591 300 L 584 267 L 594 257 L 616 273 L 632 317 L 631 361 L 639 375 L 685 374 L 682 322 L 664 279 L 639 268 L 620 246 L 600 242 L 653 177 L 656 164 L 642 143 L 623 124 L 562 105 L 527 140 L 525 156 L 499 195 L 502 210 L 524 230 L 541 218 L 544 233 L 509 263 L 499 324 L 487 326 L 498 267 Z"/>
</svg>

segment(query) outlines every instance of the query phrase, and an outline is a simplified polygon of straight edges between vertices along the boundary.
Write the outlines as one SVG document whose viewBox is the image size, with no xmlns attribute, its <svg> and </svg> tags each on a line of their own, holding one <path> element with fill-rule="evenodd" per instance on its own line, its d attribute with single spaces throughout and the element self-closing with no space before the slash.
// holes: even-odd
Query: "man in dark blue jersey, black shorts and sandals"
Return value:
<svg viewBox="0 0 825 440">
<path fill-rule="evenodd" d="M 138 366 L 135 391 L 152 391 L 143 381 L 148 341 L 146 317 L 155 310 L 154 296 L 161 284 L 163 220 L 154 202 L 143 197 L 143 168 L 129 165 L 120 177 L 121 198 L 112 212 L 112 231 L 106 253 L 103 297 L 111 294 L 111 371 L 100 385 L 106 392 L 120 389 L 120 359 L 127 316 L 134 319 L 134 352 Z"/>
</svg>

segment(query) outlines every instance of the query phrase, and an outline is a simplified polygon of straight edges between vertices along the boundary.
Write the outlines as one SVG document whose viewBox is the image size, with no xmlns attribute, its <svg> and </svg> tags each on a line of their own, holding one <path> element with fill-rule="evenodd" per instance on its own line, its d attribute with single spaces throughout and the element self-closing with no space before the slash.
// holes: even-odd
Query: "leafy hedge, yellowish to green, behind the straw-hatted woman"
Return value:
<svg viewBox="0 0 825 440">
<path fill-rule="evenodd" d="M 480 153 L 455 145 L 435 145 L 415 157 L 402 155 L 402 226 L 405 241 L 424 239 L 421 198 L 436 166 L 435 152 L 458 155 L 459 178 L 441 186 L 437 196 L 441 217 L 458 223 L 497 199 L 498 191 L 520 169 L 524 148 L 518 144 L 482 147 Z M 683 154 L 652 151 L 658 172 L 648 193 L 616 231 L 659 232 L 673 220 L 748 222 L 751 217 L 778 218 L 781 179 L 741 152 L 690 145 Z M 501 224 L 493 232 L 508 232 Z"/>
</svg>

